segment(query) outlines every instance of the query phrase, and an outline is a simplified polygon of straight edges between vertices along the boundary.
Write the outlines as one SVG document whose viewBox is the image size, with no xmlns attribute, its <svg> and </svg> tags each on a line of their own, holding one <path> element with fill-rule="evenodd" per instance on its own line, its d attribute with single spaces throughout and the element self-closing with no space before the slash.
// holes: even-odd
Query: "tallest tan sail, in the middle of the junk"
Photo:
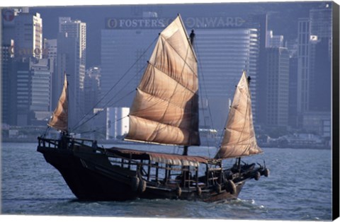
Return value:
<svg viewBox="0 0 340 222">
<path fill-rule="evenodd" d="M 197 59 L 180 16 L 159 34 L 129 117 L 126 140 L 200 144 Z"/>
</svg>

